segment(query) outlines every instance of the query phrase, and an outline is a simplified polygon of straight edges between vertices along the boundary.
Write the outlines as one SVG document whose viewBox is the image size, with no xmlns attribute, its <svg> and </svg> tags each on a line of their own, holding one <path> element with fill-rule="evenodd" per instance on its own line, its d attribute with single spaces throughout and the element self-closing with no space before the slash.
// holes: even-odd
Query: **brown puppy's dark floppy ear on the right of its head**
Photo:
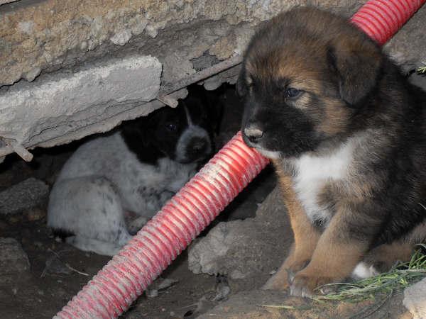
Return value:
<svg viewBox="0 0 426 319">
<path fill-rule="evenodd" d="M 361 36 L 336 40 L 328 47 L 327 60 L 337 75 L 342 100 L 351 106 L 373 91 L 381 73 L 380 48 Z"/>
</svg>

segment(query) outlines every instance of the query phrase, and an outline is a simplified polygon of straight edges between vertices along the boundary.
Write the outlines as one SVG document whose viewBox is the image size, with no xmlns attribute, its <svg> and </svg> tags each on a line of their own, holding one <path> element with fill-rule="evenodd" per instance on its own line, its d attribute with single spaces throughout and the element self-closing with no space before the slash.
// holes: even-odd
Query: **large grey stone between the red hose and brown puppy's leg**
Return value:
<svg viewBox="0 0 426 319">
<path fill-rule="evenodd" d="M 259 278 L 257 286 L 277 269 L 293 242 L 293 233 L 280 191 L 275 188 L 255 218 L 219 223 L 194 242 L 188 267 L 195 274 L 222 274 L 229 279 Z"/>
</svg>

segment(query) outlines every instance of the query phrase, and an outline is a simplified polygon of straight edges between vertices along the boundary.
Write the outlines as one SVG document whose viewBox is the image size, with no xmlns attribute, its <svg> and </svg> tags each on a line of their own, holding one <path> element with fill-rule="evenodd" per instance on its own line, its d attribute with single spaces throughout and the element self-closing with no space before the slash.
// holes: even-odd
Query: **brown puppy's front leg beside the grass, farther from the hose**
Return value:
<svg viewBox="0 0 426 319">
<path fill-rule="evenodd" d="M 338 208 L 318 241 L 310 263 L 290 285 L 293 296 L 311 296 L 318 286 L 348 277 L 366 251 L 380 221 L 348 206 Z"/>
</svg>

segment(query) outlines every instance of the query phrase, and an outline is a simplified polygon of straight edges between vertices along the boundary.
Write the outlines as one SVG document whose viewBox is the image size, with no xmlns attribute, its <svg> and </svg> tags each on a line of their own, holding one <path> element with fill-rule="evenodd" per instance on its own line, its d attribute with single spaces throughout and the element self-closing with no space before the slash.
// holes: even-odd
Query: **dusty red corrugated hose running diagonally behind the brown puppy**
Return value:
<svg viewBox="0 0 426 319">
<path fill-rule="evenodd" d="M 368 1 L 351 18 L 383 45 L 426 0 Z M 117 318 L 268 164 L 237 133 L 54 318 Z"/>
</svg>

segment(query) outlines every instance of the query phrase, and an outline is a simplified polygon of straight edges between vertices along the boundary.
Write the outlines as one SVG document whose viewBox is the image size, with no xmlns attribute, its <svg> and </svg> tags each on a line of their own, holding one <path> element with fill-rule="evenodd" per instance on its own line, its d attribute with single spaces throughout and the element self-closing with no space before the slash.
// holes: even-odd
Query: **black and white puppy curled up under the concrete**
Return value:
<svg viewBox="0 0 426 319">
<path fill-rule="evenodd" d="M 80 146 L 50 193 L 48 226 L 80 250 L 116 254 L 212 153 L 203 102 L 190 96 Z"/>
</svg>

